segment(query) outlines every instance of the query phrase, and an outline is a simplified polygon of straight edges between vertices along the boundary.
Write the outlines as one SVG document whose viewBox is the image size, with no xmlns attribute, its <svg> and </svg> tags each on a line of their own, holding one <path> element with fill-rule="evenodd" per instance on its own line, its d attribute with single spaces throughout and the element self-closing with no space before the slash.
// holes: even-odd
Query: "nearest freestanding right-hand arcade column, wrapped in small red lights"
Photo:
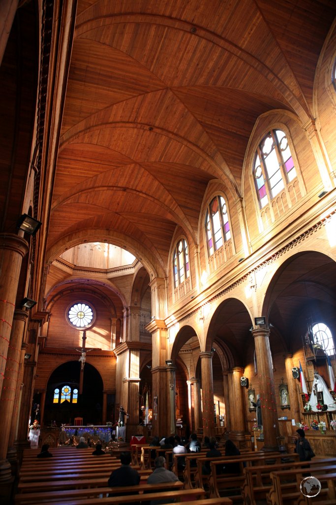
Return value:
<svg viewBox="0 0 336 505">
<path fill-rule="evenodd" d="M 252 330 L 252 335 L 258 367 L 264 448 L 275 450 L 279 447 L 277 441 L 279 423 L 271 359 L 270 329 L 255 328 Z"/>
</svg>

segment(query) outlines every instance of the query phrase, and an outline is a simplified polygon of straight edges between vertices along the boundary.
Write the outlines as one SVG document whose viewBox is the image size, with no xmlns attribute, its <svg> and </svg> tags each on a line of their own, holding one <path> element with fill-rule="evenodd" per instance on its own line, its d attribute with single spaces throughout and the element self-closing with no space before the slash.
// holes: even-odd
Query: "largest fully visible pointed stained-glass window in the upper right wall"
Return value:
<svg viewBox="0 0 336 505">
<path fill-rule="evenodd" d="M 261 140 L 255 153 L 253 177 L 260 209 L 296 177 L 288 138 L 282 130 L 271 130 Z"/>
</svg>

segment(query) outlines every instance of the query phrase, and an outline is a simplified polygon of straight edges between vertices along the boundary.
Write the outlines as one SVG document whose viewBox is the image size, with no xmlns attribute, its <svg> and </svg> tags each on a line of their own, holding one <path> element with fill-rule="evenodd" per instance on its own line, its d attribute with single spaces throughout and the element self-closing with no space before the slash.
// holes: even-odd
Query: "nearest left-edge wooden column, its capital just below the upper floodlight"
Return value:
<svg viewBox="0 0 336 505">
<path fill-rule="evenodd" d="M 3 391 L 22 258 L 27 251 L 26 240 L 13 233 L 0 233 L 0 391 Z"/>
</svg>

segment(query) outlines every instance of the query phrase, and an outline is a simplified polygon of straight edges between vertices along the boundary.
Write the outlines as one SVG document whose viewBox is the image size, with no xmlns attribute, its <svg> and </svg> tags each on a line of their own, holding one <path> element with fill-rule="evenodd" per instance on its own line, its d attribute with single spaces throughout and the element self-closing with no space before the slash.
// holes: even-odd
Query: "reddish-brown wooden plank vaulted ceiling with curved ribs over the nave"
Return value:
<svg viewBox="0 0 336 505">
<path fill-rule="evenodd" d="M 332 0 L 79 0 L 49 250 L 104 233 L 167 273 L 207 185 L 242 195 L 257 117 L 312 117 Z M 57 249 L 58 247 L 58 249 Z"/>
</svg>

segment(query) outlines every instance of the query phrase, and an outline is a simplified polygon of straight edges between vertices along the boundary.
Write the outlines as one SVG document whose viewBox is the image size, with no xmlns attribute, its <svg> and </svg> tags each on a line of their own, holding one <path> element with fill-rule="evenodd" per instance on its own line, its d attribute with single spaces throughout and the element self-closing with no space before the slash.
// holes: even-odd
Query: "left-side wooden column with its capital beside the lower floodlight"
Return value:
<svg viewBox="0 0 336 505">
<path fill-rule="evenodd" d="M 28 313 L 26 311 L 19 309 L 15 310 L 0 400 L 0 461 L 6 459 L 8 452 L 10 430 L 13 422 L 15 393 L 19 375 L 21 344 L 27 319 Z"/>
</svg>

